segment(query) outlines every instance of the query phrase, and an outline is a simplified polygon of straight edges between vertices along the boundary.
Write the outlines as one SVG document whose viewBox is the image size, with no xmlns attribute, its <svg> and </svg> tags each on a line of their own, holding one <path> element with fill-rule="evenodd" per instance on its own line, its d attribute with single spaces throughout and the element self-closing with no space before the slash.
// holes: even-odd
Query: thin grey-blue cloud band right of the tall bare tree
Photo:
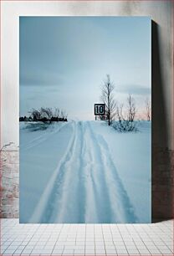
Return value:
<svg viewBox="0 0 174 256">
<path fill-rule="evenodd" d="M 140 84 L 122 84 L 116 86 L 115 90 L 120 93 L 127 93 L 130 95 L 150 95 L 151 88 L 142 86 Z"/>
</svg>

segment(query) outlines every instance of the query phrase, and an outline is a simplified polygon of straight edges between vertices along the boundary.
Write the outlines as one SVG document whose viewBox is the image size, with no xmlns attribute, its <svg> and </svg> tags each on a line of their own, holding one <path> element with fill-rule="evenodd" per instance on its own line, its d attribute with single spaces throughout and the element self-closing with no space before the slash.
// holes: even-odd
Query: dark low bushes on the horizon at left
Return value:
<svg viewBox="0 0 174 256">
<path fill-rule="evenodd" d="M 40 108 L 38 110 L 31 110 L 28 112 L 29 116 L 20 116 L 19 121 L 34 121 L 34 122 L 44 122 L 51 124 L 52 122 L 59 122 L 59 121 L 68 121 L 67 120 L 67 113 L 64 110 L 59 110 L 59 108 Z"/>
</svg>

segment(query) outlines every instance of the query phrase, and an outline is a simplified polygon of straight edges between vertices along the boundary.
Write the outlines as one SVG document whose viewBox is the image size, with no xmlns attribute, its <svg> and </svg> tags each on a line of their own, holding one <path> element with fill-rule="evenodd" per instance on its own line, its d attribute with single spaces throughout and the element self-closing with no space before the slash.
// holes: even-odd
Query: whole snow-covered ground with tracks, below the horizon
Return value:
<svg viewBox="0 0 174 256">
<path fill-rule="evenodd" d="M 102 121 L 28 125 L 20 123 L 20 223 L 151 223 L 151 122 L 136 133 Z"/>
</svg>

